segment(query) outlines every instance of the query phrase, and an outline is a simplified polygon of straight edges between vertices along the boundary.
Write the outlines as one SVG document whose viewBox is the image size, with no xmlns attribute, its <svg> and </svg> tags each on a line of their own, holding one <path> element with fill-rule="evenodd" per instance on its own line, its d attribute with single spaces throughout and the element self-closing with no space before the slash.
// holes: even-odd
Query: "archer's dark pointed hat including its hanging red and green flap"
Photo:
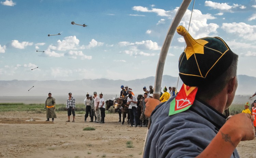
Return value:
<svg viewBox="0 0 256 158">
<path fill-rule="evenodd" d="M 184 37 L 187 45 L 179 59 L 179 75 L 184 84 L 170 102 L 169 116 L 189 109 L 198 87 L 225 73 L 234 56 L 220 37 L 194 39 L 183 26 L 177 27 L 177 33 Z"/>
</svg>

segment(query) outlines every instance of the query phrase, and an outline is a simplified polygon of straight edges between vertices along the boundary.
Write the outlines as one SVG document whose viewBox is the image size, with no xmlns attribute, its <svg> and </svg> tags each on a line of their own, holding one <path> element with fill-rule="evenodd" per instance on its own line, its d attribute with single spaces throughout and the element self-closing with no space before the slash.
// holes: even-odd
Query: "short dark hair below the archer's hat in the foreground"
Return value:
<svg viewBox="0 0 256 158">
<path fill-rule="evenodd" d="M 228 81 L 237 76 L 237 63 L 238 55 L 234 53 L 233 61 L 229 68 L 212 82 L 199 86 L 196 97 L 204 101 L 213 98 L 215 95 L 221 92 Z"/>
</svg>

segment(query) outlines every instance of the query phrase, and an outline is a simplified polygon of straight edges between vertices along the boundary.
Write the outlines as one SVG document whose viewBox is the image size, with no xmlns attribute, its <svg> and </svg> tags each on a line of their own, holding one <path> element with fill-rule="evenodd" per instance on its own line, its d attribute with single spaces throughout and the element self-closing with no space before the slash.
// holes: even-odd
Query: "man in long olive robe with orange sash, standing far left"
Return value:
<svg viewBox="0 0 256 158">
<path fill-rule="evenodd" d="M 49 118 L 52 118 L 52 122 L 54 122 L 54 118 L 57 118 L 55 113 L 55 98 L 52 97 L 52 93 L 48 93 L 48 98 L 45 100 L 44 109 L 46 109 L 46 121 L 50 121 Z"/>
</svg>

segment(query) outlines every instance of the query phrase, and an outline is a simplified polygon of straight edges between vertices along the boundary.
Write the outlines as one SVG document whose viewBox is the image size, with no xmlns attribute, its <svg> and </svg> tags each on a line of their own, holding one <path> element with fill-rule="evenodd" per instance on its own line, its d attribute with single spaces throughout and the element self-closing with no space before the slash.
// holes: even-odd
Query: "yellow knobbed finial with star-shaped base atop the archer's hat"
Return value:
<svg viewBox="0 0 256 158">
<path fill-rule="evenodd" d="M 204 54 L 203 46 L 208 43 L 207 41 L 194 39 L 183 26 L 177 27 L 177 33 L 185 39 L 187 47 L 184 52 L 186 53 L 187 60 L 195 53 Z"/>
</svg>

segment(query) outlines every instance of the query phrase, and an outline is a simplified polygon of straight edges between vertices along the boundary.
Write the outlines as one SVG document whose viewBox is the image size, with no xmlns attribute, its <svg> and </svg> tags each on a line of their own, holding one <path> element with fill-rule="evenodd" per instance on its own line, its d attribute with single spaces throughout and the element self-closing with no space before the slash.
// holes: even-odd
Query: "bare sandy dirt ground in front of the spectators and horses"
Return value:
<svg viewBox="0 0 256 158">
<path fill-rule="evenodd" d="M 77 114 L 75 122 L 66 122 L 67 114 L 57 113 L 53 122 L 45 114 L 29 112 L 0 113 L 0 157 L 19 158 L 141 158 L 146 127 L 129 127 L 118 122 L 118 114 L 106 114 L 105 124 L 84 122 Z M 26 121 L 33 118 L 35 121 Z M 88 120 L 88 119 L 87 119 Z M 85 127 L 96 130 L 84 131 Z M 133 147 L 128 148 L 127 141 Z M 241 158 L 256 158 L 256 140 L 241 142 Z"/>
</svg>

